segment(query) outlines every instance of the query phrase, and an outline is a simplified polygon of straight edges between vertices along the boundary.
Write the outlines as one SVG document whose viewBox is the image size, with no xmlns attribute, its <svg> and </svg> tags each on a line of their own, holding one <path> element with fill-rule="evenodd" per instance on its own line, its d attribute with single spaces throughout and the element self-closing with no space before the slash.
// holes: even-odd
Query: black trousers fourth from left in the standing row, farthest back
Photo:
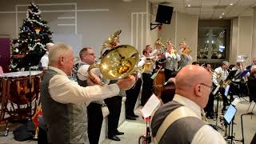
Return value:
<svg viewBox="0 0 256 144">
<path fill-rule="evenodd" d="M 144 106 L 150 96 L 153 94 L 153 79 L 151 74 L 142 73 L 142 98 L 141 105 Z"/>
</svg>

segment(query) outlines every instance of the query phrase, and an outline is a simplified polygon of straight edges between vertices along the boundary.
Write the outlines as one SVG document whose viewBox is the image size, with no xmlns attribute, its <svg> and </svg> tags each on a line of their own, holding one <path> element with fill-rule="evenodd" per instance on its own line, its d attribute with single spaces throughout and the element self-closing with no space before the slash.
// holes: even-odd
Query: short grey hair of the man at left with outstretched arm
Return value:
<svg viewBox="0 0 256 144">
<path fill-rule="evenodd" d="M 65 43 L 56 43 L 49 51 L 49 65 L 58 62 L 58 58 L 67 52 L 73 51 L 72 47 Z"/>
</svg>

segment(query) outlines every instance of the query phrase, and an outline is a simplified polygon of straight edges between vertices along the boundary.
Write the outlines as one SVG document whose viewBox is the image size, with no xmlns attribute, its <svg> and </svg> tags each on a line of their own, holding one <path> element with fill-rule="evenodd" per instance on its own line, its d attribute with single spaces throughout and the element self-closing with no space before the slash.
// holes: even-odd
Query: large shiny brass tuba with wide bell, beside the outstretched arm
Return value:
<svg viewBox="0 0 256 144">
<path fill-rule="evenodd" d="M 102 77 L 110 80 L 125 78 L 135 71 L 139 71 L 137 64 L 139 62 L 138 50 L 134 46 L 120 45 L 119 35 L 121 30 L 110 35 L 103 44 L 100 52 L 100 61 L 91 65 L 87 72 L 89 77 L 95 82 L 91 69 L 99 68 Z M 100 85 L 104 83 L 100 82 Z"/>
</svg>

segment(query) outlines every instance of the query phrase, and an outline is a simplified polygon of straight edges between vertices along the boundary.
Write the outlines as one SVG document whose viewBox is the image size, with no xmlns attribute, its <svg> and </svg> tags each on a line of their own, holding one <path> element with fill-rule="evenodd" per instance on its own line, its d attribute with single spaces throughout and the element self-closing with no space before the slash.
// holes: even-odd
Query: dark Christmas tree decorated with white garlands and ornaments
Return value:
<svg viewBox="0 0 256 144">
<path fill-rule="evenodd" d="M 37 69 L 40 59 L 46 53 L 46 43 L 52 42 L 51 38 L 52 32 L 47 22 L 41 19 L 41 10 L 30 3 L 18 38 L 12 41 L 10 70 L 29 70 L 31 66 Z"/>
</svg>

